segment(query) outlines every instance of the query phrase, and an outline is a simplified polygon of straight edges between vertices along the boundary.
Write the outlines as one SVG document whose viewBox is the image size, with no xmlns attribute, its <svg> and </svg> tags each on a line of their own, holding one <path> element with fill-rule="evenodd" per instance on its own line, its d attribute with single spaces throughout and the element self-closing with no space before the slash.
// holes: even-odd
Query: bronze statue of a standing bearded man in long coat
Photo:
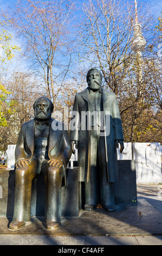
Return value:
<svg viewBox="0 0 162 256">
<path fill-rule="evenodd" d="M 113 185 L 118 180 L 116 147 L 120 144 L 120 152 L 124 149 L 119 107 L 115 94 L 101 87 L 98 69 L 88 71 L 87 83 L 88 88 L 75 96 L 70 127 L 72 147 L 76 144 L 78 148 L 82 208 L 93 210 L 101 203 L 103 209 L 113 211 Z"/>
</svg>

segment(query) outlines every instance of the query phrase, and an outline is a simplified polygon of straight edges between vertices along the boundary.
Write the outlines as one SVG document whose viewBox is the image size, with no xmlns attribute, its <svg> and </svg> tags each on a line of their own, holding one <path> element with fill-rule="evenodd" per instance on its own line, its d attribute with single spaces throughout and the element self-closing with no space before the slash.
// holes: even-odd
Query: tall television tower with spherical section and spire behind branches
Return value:
<svg viewBox="0 0 162 256">
<path fill-rule="evenodd" d="M 141 25 L 138 22 L 138 15 L 137 15 L 137 0 L 134 1 L 135 3 L 135 24 L 133 26 L 134 29 L 134 36 L 132 39 L 132 50 L 137 55 L 137 68 L 138 68 L 138 92 L 139 96 L 142 95 L 142 50 L 144 50 L 146 46 L 146 40 L 142 36 L 141 32 Z"/>
</svg>

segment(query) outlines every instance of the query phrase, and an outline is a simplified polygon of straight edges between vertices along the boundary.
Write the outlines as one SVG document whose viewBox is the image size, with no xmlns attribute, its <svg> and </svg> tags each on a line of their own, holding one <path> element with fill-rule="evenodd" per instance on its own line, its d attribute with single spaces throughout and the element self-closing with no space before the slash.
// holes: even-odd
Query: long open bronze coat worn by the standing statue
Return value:
<svg viewBox="0 0 162 256">
<path fill-rule="evenodd" d="M 103 113 L 106 127 L 109 127 L 109 134 L 105 136 L 103 151 L 106 153 L 107 161 L 107 179 L 109 182 L 118 180 L 118 162 L 116 155 L 115 140 L 124 140 L 122 133 L 121 118 L 119 113 L 118 102 L 114 93 L 102 88 Z M 85 89 L 77 93 L 74 100 L 73 111 L 77 112 L 74 116 L 77 129 L 70 131 L 70 140 L 79 141 L 78 149 L 78 165 L 80 167 L 80 181 L 88 181 L 90 179 L 90 131 L 82 130 L 81 113 L 89 110 L 89 90 Z M 75 113 L 73 112 L 73 113 Z M 106 115 L 109 114 L 109 118 Z M 108 123 L 107 123 L 108 120 Z M 73 119 L 72 119 L 73 121 Z M 72 122 L 73 124 L 73 122 Z M 96 146 L 95 146 L 96 147 Z M 102 167 L 101 167 L 102 168 Z"/>
</svg>

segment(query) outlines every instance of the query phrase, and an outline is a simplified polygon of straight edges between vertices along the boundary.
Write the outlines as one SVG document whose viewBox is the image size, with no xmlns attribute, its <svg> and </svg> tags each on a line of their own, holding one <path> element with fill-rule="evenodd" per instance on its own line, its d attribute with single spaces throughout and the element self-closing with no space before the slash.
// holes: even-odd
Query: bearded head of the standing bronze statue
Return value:
<svg viewBox="0 0 162 256">
<path fill-rule="evenodd" d="M 101 72 L 96 68 L 89 69 L 87 72 L 87 83 L 88 87 L 92 90 L 100 89 L 102 84 Z"/>
</svg>

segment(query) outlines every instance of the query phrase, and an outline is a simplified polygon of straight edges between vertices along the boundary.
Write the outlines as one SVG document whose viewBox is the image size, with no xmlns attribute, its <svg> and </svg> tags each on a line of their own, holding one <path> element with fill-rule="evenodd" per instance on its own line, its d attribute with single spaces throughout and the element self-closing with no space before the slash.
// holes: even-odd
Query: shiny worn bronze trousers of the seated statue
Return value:
<svg viewBox="0 0 162 256">
<path fill-rule="evenodd" d="M 48 160 L 33 157 L 29 166 L 16 168 L 15 205 L 13 221 L 30 221 L 31 185 L 40 172 L 44 174 L 46 184 L 45 221 L 61 221 L 61 186 L 63 167 L 49 166 Z"/>
</svg>

